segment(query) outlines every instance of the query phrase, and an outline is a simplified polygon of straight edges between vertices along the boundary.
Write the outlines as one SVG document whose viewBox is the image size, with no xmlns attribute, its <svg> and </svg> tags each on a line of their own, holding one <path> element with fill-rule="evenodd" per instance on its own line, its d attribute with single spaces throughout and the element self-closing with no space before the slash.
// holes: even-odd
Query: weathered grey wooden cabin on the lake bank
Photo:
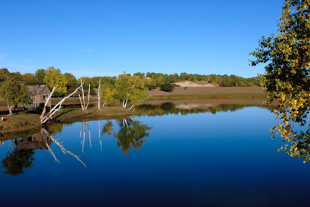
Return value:
<svg viewBox="0 0 310 207">
<path fill-rule="evenodd" d="M 47 101 L 48 96 L 51 94 L 50 89 L 47 85 L 27 85 L 31 93 L 31 98 L 33 100 L 33 108 L 41 107 L 43 108 L 44 104 Z M 48 101 L 47 107 L 52 106 L 52 101 Z M 29 106 L 28 106 L 29 107 Z"/>
</svg>

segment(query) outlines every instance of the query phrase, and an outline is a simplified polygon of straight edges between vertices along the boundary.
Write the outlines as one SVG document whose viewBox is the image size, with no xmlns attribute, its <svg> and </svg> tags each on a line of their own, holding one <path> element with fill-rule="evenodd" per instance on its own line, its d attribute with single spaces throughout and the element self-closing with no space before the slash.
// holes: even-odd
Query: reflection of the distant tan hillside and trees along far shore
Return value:
<svg viewBox="0 0 310 207">
<path fill-rule="evenodd" d="M 166 114 L 212 113 L 235 111 L 250 106 L 271 109 L 265 99 L 189 99 L 189 100 L 147 100 L 135 107 L 135 115 L 162 116 Z"/>
</svg>

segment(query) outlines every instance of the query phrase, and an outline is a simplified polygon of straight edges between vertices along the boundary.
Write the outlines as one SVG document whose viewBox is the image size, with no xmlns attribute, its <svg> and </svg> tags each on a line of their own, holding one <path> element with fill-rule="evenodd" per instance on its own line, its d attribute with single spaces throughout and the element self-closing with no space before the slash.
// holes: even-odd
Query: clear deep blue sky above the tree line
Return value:
<svg viewBox="0 0 310 207">
<path fill-rule="evenodd" d="M 283 1 L 0 0 L 0 68 L 80 78 L 139 72 L 263 73 L 248 55 L 277 33 Z"/>
</svg>

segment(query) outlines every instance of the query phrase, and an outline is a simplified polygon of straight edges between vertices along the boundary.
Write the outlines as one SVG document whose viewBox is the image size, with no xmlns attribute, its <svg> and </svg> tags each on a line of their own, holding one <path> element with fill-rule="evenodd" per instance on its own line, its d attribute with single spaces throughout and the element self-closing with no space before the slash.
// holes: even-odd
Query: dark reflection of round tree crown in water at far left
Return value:
<svg viewBox="0 0 310 207">
<path fill-rule="evenodd" d="M 34 160 L 33 149 L 15 149 L 13 153 L 8 153 L 7 157 L 2 159 L 2 167 L 5 169 L 4 174 L 19 176 L 24 174 L 24 169 L 32 167 Z"/>
</svg>

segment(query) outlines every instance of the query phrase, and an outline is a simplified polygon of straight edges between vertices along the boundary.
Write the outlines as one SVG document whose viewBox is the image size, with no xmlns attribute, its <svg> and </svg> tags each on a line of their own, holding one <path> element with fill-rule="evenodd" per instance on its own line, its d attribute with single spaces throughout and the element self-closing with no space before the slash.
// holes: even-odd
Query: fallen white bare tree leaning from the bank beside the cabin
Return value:
<svg viewBox="0 0 310 207">
<path fill-rule="evenodd" d="M 83 82 L 84 83 L 84 82 Z M 72 93 L 70 93 L 69 95 L 66 95 L 63 99 L 61 99 L 61 101 L 59 101 L 46 115 L 45 115 L 45 112 L 46 112 L 46 106 L 47 106 L 47 103 L 48 101 L 51 99 L 52 97 L 52 94 L 54 93 L 55 89 L 57 88 L 58 85 L 56 85 L 51 94 L 48 96 L 47 98 L 47 101 L 45 102 L 44 104 L 44 107 L 43 107 L 43 111 L 42 111 L 42 114 L 40 116 L 40 119 L 41 119 L 41 124 L 45 123 L 48 119 L 52 119 L 52 115 L 54 115 L 56 113 L 56 111 L 59 111 L 60 108 L 62 107 L 61 104 L 69 97 L 71 97 L 72 95 L 78 93 L 78 90 L 82 87 L 83 83 L 81 82 L 81 85 L 80 87 L 78 87 L 77 89 L 75 89 L 75 91 L 73 91 Z M 61 111 L 61 110 L 60 110 Z"/>
</svg>

